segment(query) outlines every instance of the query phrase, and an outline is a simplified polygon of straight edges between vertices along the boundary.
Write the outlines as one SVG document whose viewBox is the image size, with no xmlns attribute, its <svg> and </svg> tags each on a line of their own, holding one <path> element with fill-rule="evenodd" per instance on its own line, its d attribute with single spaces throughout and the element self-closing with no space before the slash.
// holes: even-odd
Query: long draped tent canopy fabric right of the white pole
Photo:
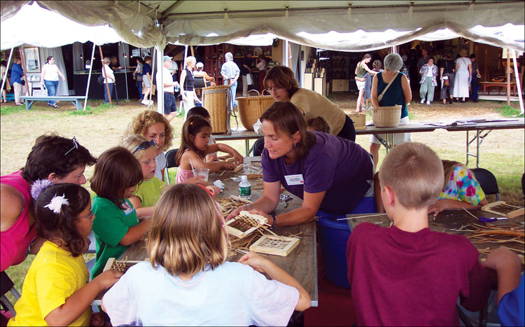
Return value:
<svg viewBox="0 0 525 327">
<path fill-rule="evenodd" d="M 172 1 L 173 2 L 173 1 Z M 186 1 L 184 1 L 186 2 Z M 214 2 L 214 1 L 203 1 Z M 230 8 L 230 4 L 237 5 L 239 1 L 219 1 Z M 273 1 L 269 2 L 271 8 Z M 293 1 L 274 1 L 288 2 Z M 300 1 L 300 4 L 309 1 Z M 341 1 L 328 1 L 341 2 Z M 352 6 L 358 1 L 353 1 Z M 360 1 L 363 2 L 363 1 Z M 376 4 L 377 6 L 374 6 Z M 456 36 L 463 36 L 481 43 L 493 46 L 524 50 L 524 41 L 521 39 L 502 39 L 496 35 L 484 35 L 473 29 L 476 25 L 485 27 L 497 27 L 507 23 L 513 25 L 524 25 L 524 1 L 477 1 L 473 7 L 469 2 L 461 1 L 463 5 L 449 6 L 447 3 L 458 3 L 458 1 L 440 1 L 440 6 L 415 6 L 409 10 L 408 6 L 379 6 L 384 1 L 371 1 L 368 8 L 352 9 L 348 11 L 324 8 L 309 11 L 304 15 L 294 15 L 290 9 L 288 17 L 281 13 L 274 13 L 273 17 L 250 17 L 235 18 L 228 13 L 196 13 L 193 16 L 169 15 L 168 20 L 172 22 L 165 27 L 165 34 L 170 43 L 206 45 L 224 43 L 237 39 L 241 36 L 252 34 L 272 33 L 282 39 L 300 43 L 306 46 L 325 48 L 330 50 L 363 51 L 385 48 L 406 43 L 414 39 L 421 39 L 428 33 L 439 29 L 449 29 Z M 409 1 L 392 1 L 395 3 Z M 414 1 L 415 4 L 429 1 Z M 246 2 L 246 6 L 251 6 Z M 389 2 L 390 3 L 390 2 Z M 435 3 L 435 2 L 434 2 Z M 346 2 L 346 4 L 348 4 Z M 323 3 L 324 5 L 324 3 Z M 176 8 L 176 12 L 183 8 L 184 4 Z M 204 4 L 203 6 L 204 7 Z M 212 8 L 212 7 L 211 7 Z M 246 8 L 245 8 L 246 10 Z M 241 13 L 246 15 L 246 13 Z M 239 15 L 241 15 L 239 14 Z M 253 13 L 257 16 L 257 13 Z M 260 16 L 260 14 L 259 14 Z M 201 18 L 201 19 L 199 19 Z M 204 19 L 205 18 L 205 19 Z M 341 37 L 339 39 L 324 37 L 330 31 L 347 34 L 358 32 L 384 32 L 393 29 L 397 32 L 406 32 L 405 35 L 392 38 L 387 34 L 383 38 L 368 40 L 366 36 L 360 39 L 355 37 Z M 523 29 L 523 27 L 521 27 Z M 208 36 L 211 32 L 214 36 Z M 316 36 L 316 34 L 318 34 Z"/>
</svg>

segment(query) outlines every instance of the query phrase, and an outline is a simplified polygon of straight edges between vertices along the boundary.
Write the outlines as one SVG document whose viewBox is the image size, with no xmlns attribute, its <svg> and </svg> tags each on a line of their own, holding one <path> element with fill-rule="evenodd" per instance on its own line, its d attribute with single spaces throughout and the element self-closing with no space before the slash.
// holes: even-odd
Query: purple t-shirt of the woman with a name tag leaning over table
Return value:
<svg viewBox="0 0 525 327">
<path fill-rule="evenodd" d="M 313 132 L 316 144 L 306 158 L 286 165 L 284 156 L 269 158 L 262 151 L 262 179 L 281 181 L 288 192 L 303 198 L 304 192 L 326 191 L 319 209 L 329 214 L 347 214 L 363 199 L 373 179 L 370 153 L 359 144 L 330 134 Z M 302 175 L 304 184 L 288 185 L 285 176 Z"/>
</svg>

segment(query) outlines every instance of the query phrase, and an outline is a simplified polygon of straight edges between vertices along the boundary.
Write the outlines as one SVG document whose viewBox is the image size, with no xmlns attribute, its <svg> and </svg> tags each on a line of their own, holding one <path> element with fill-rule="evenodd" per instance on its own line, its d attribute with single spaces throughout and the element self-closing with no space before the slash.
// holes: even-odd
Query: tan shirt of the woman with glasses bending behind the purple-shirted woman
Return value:
<svg viewBox="0 0 525 327">
<path fill-rule="evenodd" d="M 299 88 L 290 98 L 290 102 L 304 111 L 304 120 L 323 117 L 330 126 L 330 134 L 337 136 L 341 132 L 346 114 L 337 104 L 331 102 L 324 95 Z"/>
</svg>

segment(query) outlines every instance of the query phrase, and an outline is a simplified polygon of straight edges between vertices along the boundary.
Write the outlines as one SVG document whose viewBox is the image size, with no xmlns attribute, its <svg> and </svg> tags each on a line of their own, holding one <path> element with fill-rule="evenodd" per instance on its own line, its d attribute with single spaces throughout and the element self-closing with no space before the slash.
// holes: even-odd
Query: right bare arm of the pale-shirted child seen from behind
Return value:
<svg viewBox="0 0 525 327">
<path fill-rule="evenodd" d="M 258 272 L 262 272 L 263 274 L 267 273 L 271 279 L 297 288 L 297 291 L 299 291 L 299 302 L 297 302 L 297 305 L 295 306 L 297 311 L 304 311 L 310 307 L 310 295 L 308 292 L 297 280 L 295 280 L 295 278 L 291 277 L 288 272 L 282 270 L 275 263 L 272 263 L 272 261 L 250 251 L 239 259 L 239 263 L 249 265 Z"/>
</svg>

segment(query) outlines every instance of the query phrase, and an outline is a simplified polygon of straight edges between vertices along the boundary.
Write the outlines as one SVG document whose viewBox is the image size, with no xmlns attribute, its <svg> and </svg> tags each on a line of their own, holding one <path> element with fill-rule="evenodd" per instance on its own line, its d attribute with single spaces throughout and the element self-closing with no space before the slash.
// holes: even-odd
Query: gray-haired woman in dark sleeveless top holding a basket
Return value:
<svg viewBox="0 0 525 327">
<path fill-rule="evenodd" d="M 374 104 L 374 107 L 399 104 L 401 106 L 401 119 L 399 122 L 407 124 L 409 122 L 407 103 L 412 100 L 412 91 L 410 90 L 407 76 L 399 71 L 402 64 L 402 59 L 397 53 L 391 53 L 384 58 L 384 71 L 376 74 L 372 80 L 372 104 Z M 381 139 L 386 139 L 386 134 L 379 134 L 378 136 Z M 412 141 L 410 133 L 394 134 L 395 145 L 408 141 Z M 381 142 L 379 142 L 379 139 L 374 135 L 370 135 L 370 153 L 374 156 L 374 167 L 377 167 L 377 162 L 379 161 L 380 147 Z"/>
</svg>

